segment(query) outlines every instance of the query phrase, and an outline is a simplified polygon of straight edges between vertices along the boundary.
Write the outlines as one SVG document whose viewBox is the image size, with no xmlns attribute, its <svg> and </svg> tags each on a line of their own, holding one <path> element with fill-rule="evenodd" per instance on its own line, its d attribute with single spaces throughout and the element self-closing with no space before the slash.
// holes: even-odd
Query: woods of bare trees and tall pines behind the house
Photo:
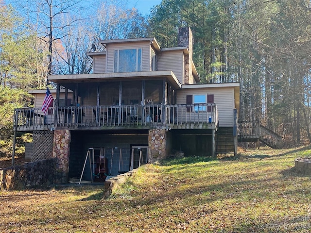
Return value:
<svg viewBox="0 0 311 233">
<path fill-rule="evenodd" d="M 48 74 L 92 72 L 86 55 L 99 39 L 155 37 L 177 45 L 193 33 L 202 83 L 241 83 L 239 120 L 260 123 L 287 147 L 311 142 L 310 0 L 162 0 L 143 16 L 126 0 L 0 0 L 0 156 L 12 150 L 14 108 Z M 18 137 L 17 154 L 31 140 Z"/>
</svg>

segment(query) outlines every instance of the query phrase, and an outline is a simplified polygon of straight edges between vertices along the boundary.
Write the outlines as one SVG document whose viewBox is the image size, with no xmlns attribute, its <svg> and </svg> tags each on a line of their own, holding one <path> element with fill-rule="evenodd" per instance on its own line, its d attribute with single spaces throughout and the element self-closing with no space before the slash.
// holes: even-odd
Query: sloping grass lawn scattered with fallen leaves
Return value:
<svg viewBox="0 0 311 233">
<path fill-rule="evenodd" d="M 100 186 L 0 192 L 0 232 L 310 233 L 311 147 L 241 150 L 141 167 L 102 200 Z"/>
</svg>

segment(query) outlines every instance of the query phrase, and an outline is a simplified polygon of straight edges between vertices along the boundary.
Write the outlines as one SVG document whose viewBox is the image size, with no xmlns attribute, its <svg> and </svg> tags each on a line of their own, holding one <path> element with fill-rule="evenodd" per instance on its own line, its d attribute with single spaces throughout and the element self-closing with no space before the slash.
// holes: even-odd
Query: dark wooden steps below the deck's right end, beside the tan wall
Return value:
<svg viewBox="0 0 311 233">
<path fill-rule="evenodd" d="M 220 127 L 216 134 L 216 154 L 234 154 L 233 127 Z"/>
</svg>

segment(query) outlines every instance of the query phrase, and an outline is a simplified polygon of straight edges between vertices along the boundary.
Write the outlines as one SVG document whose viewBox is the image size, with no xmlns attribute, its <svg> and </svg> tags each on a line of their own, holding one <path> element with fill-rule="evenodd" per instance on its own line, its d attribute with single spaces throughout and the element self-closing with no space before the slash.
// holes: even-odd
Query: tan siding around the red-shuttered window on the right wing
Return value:
<svg viewBox="0 0 311 233">
<path fill-rule="evenodd" d="M 233 126 L 234 109 L 234 88 L 194 88 L 177 91 L 177 104 L 186 104 L 187 95 L 214 95 L 214 102 L 217 105 L 219 126 Z"/>
</svg>

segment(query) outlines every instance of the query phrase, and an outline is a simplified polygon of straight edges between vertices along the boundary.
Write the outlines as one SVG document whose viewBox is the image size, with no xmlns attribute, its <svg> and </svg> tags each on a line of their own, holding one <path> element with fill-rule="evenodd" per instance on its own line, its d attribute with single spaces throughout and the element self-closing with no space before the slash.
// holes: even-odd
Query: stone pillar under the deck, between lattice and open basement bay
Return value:
<svg viewBox="0 0 311 233">
<path fill-rule="evenodd" d="M 53 158 L 56 158 L 55 183 L 68 183 L 70 131 L 55 130 L 53 138 Z"/>
</svg>

